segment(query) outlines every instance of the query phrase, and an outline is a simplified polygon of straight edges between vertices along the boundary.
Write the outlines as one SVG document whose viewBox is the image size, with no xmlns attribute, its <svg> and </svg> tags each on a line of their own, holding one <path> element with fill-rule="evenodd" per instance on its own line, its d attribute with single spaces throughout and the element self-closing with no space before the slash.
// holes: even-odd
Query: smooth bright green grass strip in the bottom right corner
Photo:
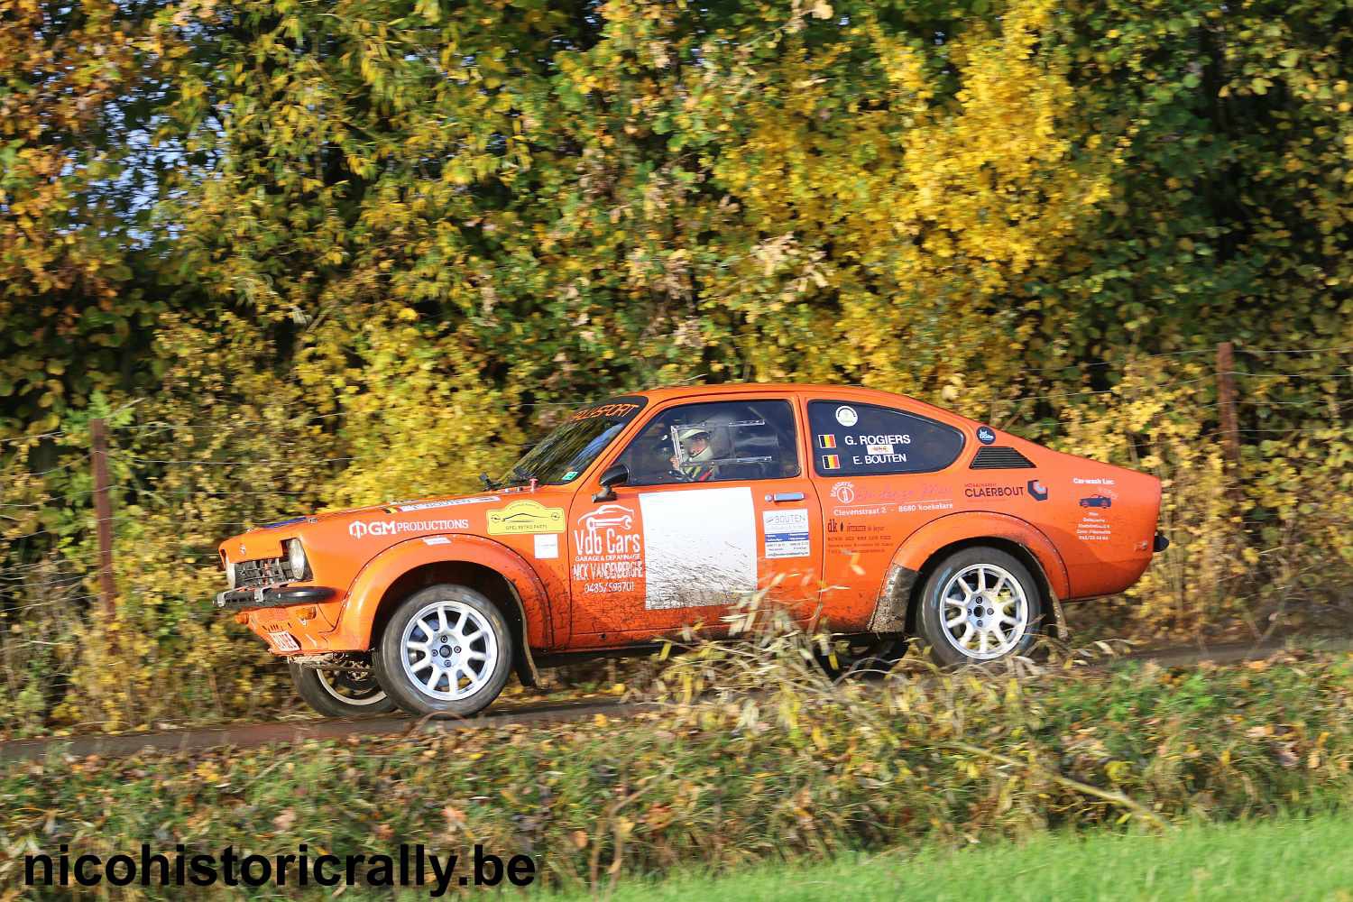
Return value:
<svg viewBox="0 0 1353 902">
<path fill-rule="evenodd" d="M 625 880 L 610 902 L 966 902 L 1008 899 L 1353 899 L 1353 815 L 1193 824 L 1169 836 L 1051 833 L 917 855 L 846 855 L 801 867 Z M 537 895 L 583 902 L 593 893 Z"/>
</svg>

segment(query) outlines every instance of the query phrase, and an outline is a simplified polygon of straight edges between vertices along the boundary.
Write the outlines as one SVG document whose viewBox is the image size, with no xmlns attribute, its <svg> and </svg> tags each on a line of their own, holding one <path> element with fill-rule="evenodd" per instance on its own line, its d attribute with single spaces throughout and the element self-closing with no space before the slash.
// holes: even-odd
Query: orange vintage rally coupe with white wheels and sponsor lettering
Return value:
<svg viewBox="0 0 1353 902">
<path fill-rule="evenodd" d="M 835 385 L 613 398 L 486 484 L 229 538 L 216 606 L 321 713 L 468 715 L 509 671 L 717 627 L 756 591 L 862 655 L 1019 655 L 1166 544 L 1154 476 Z"/>
</svg>

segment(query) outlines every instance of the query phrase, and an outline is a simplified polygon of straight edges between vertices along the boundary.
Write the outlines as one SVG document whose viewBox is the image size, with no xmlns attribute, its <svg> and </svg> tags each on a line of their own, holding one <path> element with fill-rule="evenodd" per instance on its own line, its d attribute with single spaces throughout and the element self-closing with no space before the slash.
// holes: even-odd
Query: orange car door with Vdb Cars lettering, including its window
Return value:
<svg viewBox="0 0 1353 902">
<path fill-rule="evenodd" d="M 575 496 L 574 645 L 647 641 L 695 622 L 718 629 L 758 591 L 816 606 L 823 518 L 801 435 L 789 394 L 655 407 L 610 461 L 629 472 L 614 498 L 594 499 L 599 485 Z"/>
</svg>

